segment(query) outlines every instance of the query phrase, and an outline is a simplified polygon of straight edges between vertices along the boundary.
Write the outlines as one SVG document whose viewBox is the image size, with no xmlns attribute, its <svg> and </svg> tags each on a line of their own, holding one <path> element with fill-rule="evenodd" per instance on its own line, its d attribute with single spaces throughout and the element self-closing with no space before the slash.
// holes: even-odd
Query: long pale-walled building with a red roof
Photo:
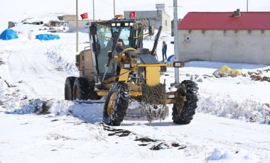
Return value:
<svg viewBox="0 0 270 163">
<path fill-rule="evenodd" d="M 189 12 L 178 39 L 185 62 L 270 64 L 270 12 Z"/>
</svg>

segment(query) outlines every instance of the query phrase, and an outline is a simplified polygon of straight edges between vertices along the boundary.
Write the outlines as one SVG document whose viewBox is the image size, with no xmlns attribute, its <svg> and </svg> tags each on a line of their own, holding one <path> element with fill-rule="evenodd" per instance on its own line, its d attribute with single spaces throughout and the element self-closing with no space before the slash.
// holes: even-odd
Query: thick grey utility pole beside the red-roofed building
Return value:
<svg viewBox="0 0 270 163">
<path fill-rule="evenodd" d="M 177 0 L 173 0 L 173 32 L 174 32 L 174 60 L 179 62 L 178 55 L 178 11 Z M 174 70 L 175 84 L 179 83 L 179 68 Z"/>
</svg>

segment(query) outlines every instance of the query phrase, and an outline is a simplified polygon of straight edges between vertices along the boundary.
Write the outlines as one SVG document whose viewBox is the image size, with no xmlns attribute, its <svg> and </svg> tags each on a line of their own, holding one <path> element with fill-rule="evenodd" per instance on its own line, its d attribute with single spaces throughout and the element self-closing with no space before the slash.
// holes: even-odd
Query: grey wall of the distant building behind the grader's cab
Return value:
<svg viewBox="0 0 270 163">
<path fill-rule="evenodd" d="M 129 12 L 124 11 L 124 18 L 129 19 Z M 163 31 L 171 30 L 170 16 L 164 11 L 136 11 L 136 18 L 148 18 L 150 19 L 151 26 L 158 29 L 159 26 L 163 26 Z"/>
</svg>

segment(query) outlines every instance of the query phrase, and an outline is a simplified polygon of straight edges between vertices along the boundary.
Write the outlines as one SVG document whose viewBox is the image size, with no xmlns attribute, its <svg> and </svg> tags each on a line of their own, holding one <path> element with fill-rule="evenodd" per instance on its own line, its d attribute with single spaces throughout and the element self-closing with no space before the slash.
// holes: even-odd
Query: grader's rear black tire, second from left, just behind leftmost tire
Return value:
<svg viewBox="0 0 270 163">
<path fill-rule="evenodd" d="M 73 99 L 87 100 L 90 91 L 90 85 L 85 77 L 77 77 L 73 86 Z"/>
</svg>

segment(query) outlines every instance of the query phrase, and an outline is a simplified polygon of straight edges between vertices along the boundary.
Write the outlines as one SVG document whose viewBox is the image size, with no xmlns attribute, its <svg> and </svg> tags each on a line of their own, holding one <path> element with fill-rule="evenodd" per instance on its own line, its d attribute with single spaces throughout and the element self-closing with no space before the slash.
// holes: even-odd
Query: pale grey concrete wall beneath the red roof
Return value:
<svg viewBox="0 0 270 163">
<path fill-rule="evenodd" d="M 178 37 L 181 61 L 270 64 L 270 30 L 178 30 Z"/>
</svg>

